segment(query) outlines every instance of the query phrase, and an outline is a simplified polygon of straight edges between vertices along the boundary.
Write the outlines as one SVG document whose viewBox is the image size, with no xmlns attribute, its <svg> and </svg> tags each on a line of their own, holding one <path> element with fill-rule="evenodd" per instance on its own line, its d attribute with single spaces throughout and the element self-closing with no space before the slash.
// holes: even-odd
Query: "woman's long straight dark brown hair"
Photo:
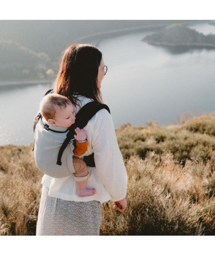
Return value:
<svg viewBox="0 0 215 256">
<path fill-rule="evenodd" d="M 55 92 L 68 97 L 72 104 L 79 104 L 77 95 L 102 103 L 98 86 L 98 67 L 101 52 L 90 44 L 72 44 L 62 57 L 55 81 Z"/>
</svg>

